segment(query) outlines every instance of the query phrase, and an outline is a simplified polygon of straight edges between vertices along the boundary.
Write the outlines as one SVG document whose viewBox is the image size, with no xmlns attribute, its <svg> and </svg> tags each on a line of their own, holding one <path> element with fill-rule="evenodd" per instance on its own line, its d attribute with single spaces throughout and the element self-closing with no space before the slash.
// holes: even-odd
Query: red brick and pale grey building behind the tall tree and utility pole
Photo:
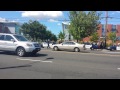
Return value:
<svg viewBox="0 0 120 90">
<path fill-rule="evenodd" d="M 65 40 L 73 40 L 73 37 L 69 34 L 68 32 L 68 26 L 70 25 L 70 23 L 62 23 L 62 28 L 63 28 L 63 32 L 65 33 Z M 105 37 L 105 24 L 100 24 L 99 25 L 99 30 L 97 30 L 98 34 L 99 34 L 99 39 L 104 39 Z M 106 31 L 106 36 L 108 36 L 109 32 L 116 32 L 116 37 L 117 37 L 117 41 L 120 41 L 120 24 L 118 25 L 113 25 L 113 24 L 108 24 L 107 25 L 107 31 Z M 84 42 L 89 42 L 90 41 L 90 36 L 83 38 Z"/>
</svg>

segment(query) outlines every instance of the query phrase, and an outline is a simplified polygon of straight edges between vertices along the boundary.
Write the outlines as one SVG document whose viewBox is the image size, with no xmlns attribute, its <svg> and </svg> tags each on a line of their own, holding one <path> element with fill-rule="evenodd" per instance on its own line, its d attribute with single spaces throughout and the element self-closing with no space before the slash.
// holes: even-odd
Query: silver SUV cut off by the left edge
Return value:
<svg viewBox="0 0 120 90">
<path fill-rule="evenodd" d="M 13 51 L 20 57 L 26 53 L 36 54 L 41 50 L 37 42 L 30 42 L 24 36 L 0 33 L 0 51 Z"/>
</svg>

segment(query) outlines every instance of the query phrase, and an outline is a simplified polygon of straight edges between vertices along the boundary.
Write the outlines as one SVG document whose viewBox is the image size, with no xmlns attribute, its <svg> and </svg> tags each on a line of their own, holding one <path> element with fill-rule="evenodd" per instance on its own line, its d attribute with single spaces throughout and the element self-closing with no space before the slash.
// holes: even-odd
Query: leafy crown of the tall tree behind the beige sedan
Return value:
<svg viewBox="0 0 120 90">
<path fill-rule="evenodd" d="M 69 14 L 69 33 L 77 42 L 98 30 L 100 13 L 96 11 L 89 11 L 88 13 L 85 11 L 70 11 Z"/>
</svg>

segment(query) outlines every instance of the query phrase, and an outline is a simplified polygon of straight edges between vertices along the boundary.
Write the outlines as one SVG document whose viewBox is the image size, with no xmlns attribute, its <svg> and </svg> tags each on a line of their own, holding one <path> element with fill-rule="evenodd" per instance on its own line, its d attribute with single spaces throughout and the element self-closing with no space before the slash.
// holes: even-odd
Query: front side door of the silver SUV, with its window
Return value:
<svg viewBox="0 0 120 90">
<path fill-rule="evenodd" d="M 5 36 L 5 42 L 6 42 L 5 50 L 7 50 L 7 51 L 15 51 L 16 42 L 11 41 L 12 39 L 14 40 L 14 38 L 12 36 L 10 36 L 10 35 Z"/>
</svg>

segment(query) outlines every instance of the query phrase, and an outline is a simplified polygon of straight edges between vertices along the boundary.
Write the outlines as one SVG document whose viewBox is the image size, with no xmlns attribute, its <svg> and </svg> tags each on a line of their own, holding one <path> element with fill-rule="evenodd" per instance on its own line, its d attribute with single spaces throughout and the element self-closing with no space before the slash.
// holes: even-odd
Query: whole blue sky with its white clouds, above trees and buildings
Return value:
<svg viewBox="0 0 120 90">
<path fill-rule="evenodd" d="M 106 11 L 101 17 L 106 16 Z M 0 11 L 0 22 L 5 20 L 24 23 L 29 20 L 37 20 L 47 26 L 47 29 L 58 35 L 62 31 L 62 22 L 69 19 L 69 11 Z M 108 11 L 108 24 L 120 24 L 120 11 Z M 101 20 L 105 24 L 105 18 Z"/>
</svg>

